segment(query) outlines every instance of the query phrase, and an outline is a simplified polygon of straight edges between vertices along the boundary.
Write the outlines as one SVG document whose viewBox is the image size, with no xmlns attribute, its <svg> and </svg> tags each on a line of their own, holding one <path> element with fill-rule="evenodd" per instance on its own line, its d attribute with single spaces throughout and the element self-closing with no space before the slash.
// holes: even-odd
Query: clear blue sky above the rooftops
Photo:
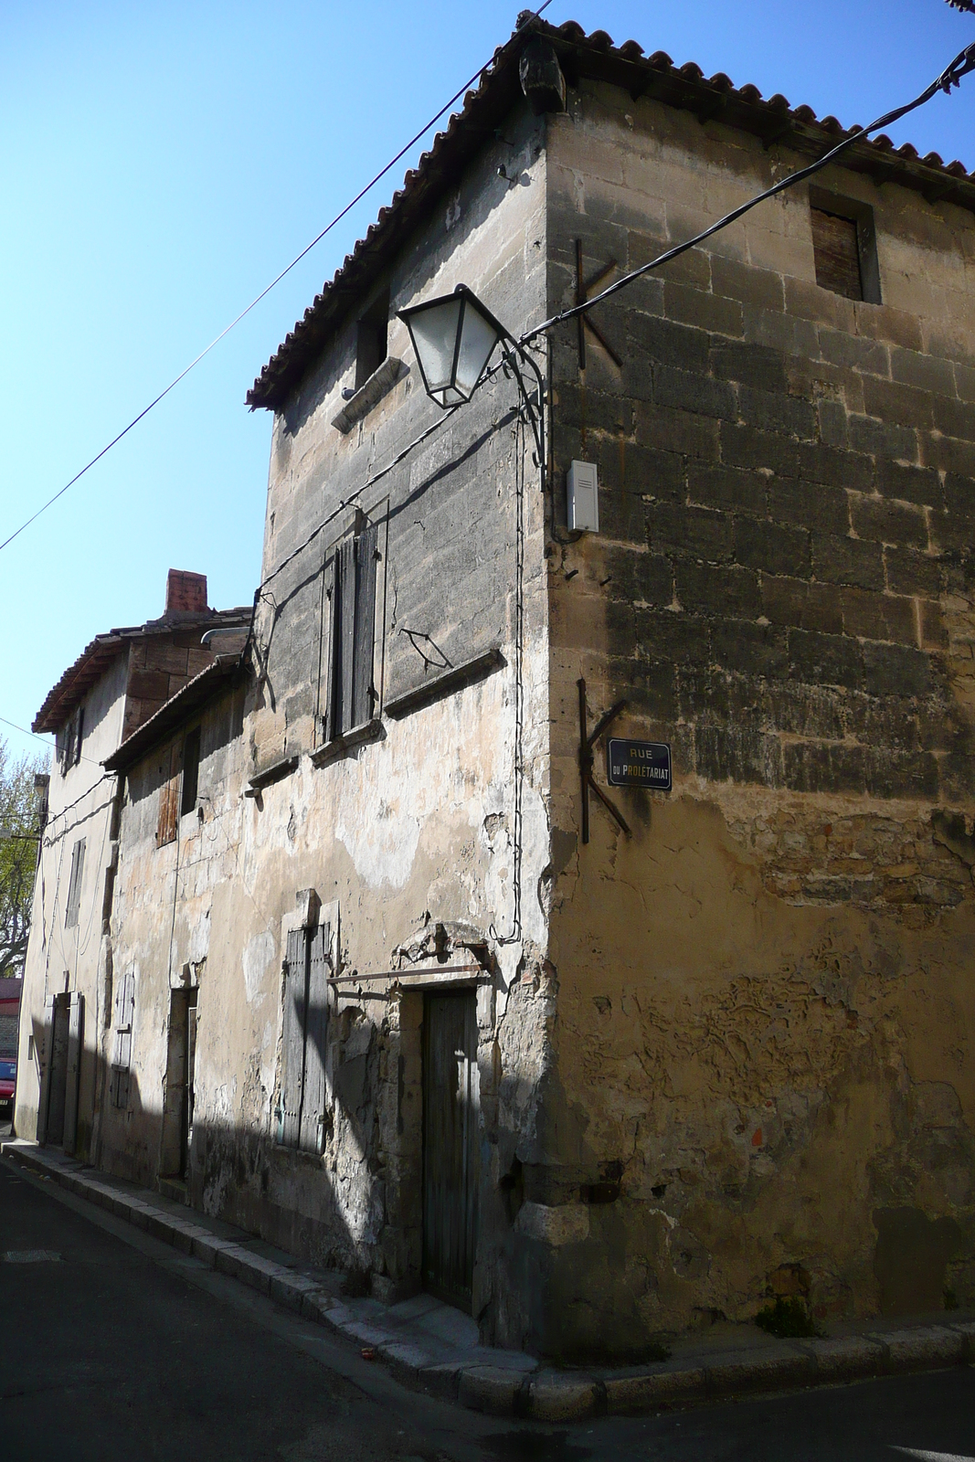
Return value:
<svg viewBox="0 0 975 1462">
<path fill-rule="evenodd" d="M 485 63 L 520 4 L 0 4 L 0 539 L 57 491 Z M 943 0 L 554 0 L 545 19 L 867 123 L 975 16 Z M 975 75 L 896 140 L 975 167 Z M 170 567 L 250 602 L 270 418 L 244 392 L 406 159 L 167 401 L 0 554 L 0 716 L 162 611 Z M 0 722 L 13 750 L 38 749 Z"/>
</svg>

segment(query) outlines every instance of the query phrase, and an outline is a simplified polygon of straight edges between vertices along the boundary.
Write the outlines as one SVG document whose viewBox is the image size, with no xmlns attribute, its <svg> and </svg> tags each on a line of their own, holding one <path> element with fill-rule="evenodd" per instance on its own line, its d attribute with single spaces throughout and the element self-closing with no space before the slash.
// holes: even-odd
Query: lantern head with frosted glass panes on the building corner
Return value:
<svg viewBox="0 0 975 1462">
<path fill-rule="evenodd" d="M 466 285 L 401 310 L 399 319 L 409 330 L 427 395 L 444 409 L 469 401 L 504 326 Z"/>
</svg>

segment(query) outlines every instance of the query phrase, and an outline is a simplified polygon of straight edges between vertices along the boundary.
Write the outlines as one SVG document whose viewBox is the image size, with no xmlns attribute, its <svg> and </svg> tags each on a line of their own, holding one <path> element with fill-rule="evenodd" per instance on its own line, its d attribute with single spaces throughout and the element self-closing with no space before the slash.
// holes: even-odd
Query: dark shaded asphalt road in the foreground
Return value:
<svg viewBox="0 0 975 1462">
<path fill-rule="evenodd" d="M 3 1462 L 975 1462 L 975 1370 L 539 1427 L 399 1386 L 235 1281 L 0 1164 Z"/>
</svg>

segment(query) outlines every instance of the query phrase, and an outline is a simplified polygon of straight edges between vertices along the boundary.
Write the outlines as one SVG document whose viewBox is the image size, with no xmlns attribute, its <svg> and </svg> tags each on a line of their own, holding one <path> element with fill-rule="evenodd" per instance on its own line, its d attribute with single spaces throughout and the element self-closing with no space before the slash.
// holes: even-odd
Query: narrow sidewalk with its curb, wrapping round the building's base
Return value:
<svg viewBox="0 0 975 1462">
<path fill-rule="evenodd" d="M 975 1363 L 975 1313 L 830 1326 L 824 1339 L 778 1341 L 753 1325 L 712 1326 L 674 1342 L 668 1361 L 623 1370 L 542 1368 L 531 1355 L 478 1344 L 475 1322 L 420 1294 L 401 1304 L 342 1294 L 341 1273 L 314 1269 L 231 1224 L 187 1209 L 35 1143 L 0 1154 L 146 1230 L 279 1304 L 373 1352 L 403 1382 L 463 1406 L 536 1421 L 656 1412 L 729 1396 L 865 1380 Z"/>
</svg>

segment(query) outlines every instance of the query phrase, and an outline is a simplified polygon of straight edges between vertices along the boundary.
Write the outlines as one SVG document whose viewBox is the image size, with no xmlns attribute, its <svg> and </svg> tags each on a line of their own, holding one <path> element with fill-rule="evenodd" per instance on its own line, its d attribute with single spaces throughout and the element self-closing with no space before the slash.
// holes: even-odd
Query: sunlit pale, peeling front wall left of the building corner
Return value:
<svg viewBox="0 0 975 1462">
<path fill-rule="evenodd" d="M 484 1142 L 474 1308 L 485 1332 L 507 1303 L 497 1275 L 512 1215 L 498 1183 L 517 1130 L 534 1120 L 547 937 L 535 890 L 550 863 L 544 512 L 515 382 L 498 374 L 401 466 L 354 494 L 439 415 L 396 308 L 463 281 L 513 327 L 542 317 L 542 121 L 528 110 L 513 115 L 504 140 L 472 161 L 405 241 L 387 279 L 389 352 L 409 370 L 384 399 L 348 436 L 332 425 L 354 380 L 355 320 L 367 297 L 278 415 L 265 579 L 300 551 L 262 594 L 241 737 L 227 741 L 219 766 L 202 769 L 210 801 L 199 826 L 181 826 L 168 848 L 155 846 L 167 749 L 133 770 L 115 901 L 117 968 L 137 966 L 133 1069 L 146 1117 L 126 1118 L 111 1161 L 121 1171 L 137 1154 L 139 1174 L 155 1177 L 168 987 L 189 966 L 199 980 L 193 1200 L 319 1262 L 365 1269 L 382 1294 L 415 1287 L 420 1275 L 422 1018 L 421 987 L 396 994 L 383 972 L 436 974 L 439 924 L 453 952 L 447 963 L 471 963 L 465 939 L 491 947 L 478 985 Z M 516 183 L 498 177 L 501 164 Z M 322 749 L 327 665 L 323 563 L 357 509 L 379 525 L 382 731 L 322 765 L 313 753 Z M 491 649 L 503 662 L 487 678 L 409 715 L 384 715 L 392 699 Z M 205 746 L 208 725 L 205 716 Z M 294 754 L 295 770 L 241 797 L 247 778 Z M 345 981 L 330 1007 L 320 1159 L 279 1148 L 273 1124 L 282 920 L 307 889 L 338 928 L 335 974 Z"/>
</svg>

